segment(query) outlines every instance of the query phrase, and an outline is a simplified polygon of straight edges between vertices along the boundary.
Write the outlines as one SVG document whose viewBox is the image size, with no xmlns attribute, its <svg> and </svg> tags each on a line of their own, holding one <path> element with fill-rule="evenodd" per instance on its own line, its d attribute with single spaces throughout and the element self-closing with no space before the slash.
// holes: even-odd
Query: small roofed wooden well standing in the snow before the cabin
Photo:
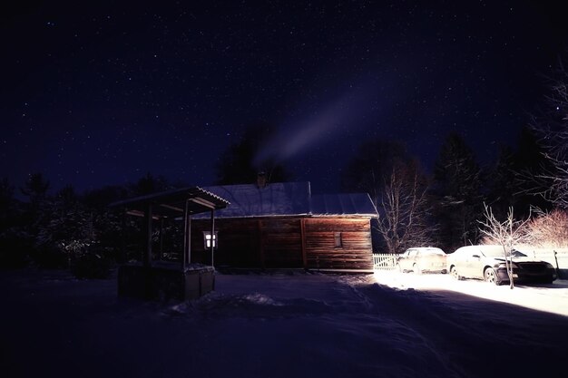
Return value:
<svg viewBox="0 0 568 378">
<path fill-rule="evenodd" d="M 229 201 L 201 189 L 175 189 L 113 203 L 127 214 L 144 218 L 146 248 L 142 264 L 119 268 L 119 296 L 144 299 L 194 299 L 214 289 L 214 268 L 191 264 L 191 217 L 209 214 L 209 228 L 215 228 L 215 211 L 226 208 Z M 183 221 L 181 263 L 152 262 L 152 230 L 154 220 L 180 218 Z M 211 254 L 212 254 L 211 246 Z"/>
</svg>

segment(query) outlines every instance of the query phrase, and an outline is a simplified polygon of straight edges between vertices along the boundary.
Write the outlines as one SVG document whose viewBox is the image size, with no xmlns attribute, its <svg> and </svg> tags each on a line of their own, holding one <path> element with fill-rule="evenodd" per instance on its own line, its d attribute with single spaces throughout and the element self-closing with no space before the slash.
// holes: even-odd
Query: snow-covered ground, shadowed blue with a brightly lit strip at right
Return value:
<svg viewBox="0 0 568 378">
<path fill-rule="evenodd" d="M 118 299 L 113 279 L 2 272 L 0 372 L 565 377 L 567 291 L 388 272 L 219 274 L 214 293 L 159 304 Z"/>
</svg>

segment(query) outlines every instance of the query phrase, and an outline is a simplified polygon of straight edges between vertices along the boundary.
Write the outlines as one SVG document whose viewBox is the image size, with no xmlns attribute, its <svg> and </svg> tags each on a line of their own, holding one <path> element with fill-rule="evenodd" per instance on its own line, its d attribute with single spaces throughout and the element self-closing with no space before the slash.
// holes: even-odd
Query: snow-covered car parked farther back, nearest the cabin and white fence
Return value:
<svg viewBox="0 0 568 378">
<path fill-rule="evenodd" d="M 400 272 L 412 271 L 418 275 L 425 272 L 446 273 L 446 253 L 435 247 L 408 248 L 398 256 L 397 268 Z"/>
</svg>

